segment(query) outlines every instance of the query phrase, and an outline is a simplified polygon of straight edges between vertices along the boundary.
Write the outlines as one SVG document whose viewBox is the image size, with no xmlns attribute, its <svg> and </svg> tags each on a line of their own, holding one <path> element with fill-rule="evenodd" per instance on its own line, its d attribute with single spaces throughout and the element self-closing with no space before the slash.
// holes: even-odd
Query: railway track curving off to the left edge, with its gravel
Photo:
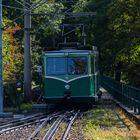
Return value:
<svg viewBox="0 0 140 140">
<path fill-rule="evenodd" d="M 17 119 L 14 121 L 9 121 L 0 125 L 0 139 L 8 140 L 27 140 L 34 130 L 48 118 L 48 121 L 51 118 L 55 118 L 59 115 L 60 112 L 52 113 L 49 115 L 46 114 L 36 114 L 28 116 L 22 119 Z"/>
</svg>

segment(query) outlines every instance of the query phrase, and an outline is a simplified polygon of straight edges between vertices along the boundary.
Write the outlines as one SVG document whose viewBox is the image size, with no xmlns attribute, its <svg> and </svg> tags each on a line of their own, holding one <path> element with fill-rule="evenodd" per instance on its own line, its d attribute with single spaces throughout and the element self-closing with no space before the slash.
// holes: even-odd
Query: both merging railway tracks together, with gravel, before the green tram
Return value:
<svg viewBox="0 0 140 140">
<path fill-rule="evenodd" d="M 8 140 L 32 140 L 38 137 L 38 134 L 49 124 L 46 132 L 42 136 L 42 140 L 50 140 L 62 127 L 62 123 L 66 124 L 65 130 L 61 134 L 61 139 L 65 140 L 69 134 L 72 124 L 77 118 L 80 111 L 60 111 L 51 114 L 35 114 L 13 121 L 7 121 L 0 124 L 0 139 Z"/>
</svg>

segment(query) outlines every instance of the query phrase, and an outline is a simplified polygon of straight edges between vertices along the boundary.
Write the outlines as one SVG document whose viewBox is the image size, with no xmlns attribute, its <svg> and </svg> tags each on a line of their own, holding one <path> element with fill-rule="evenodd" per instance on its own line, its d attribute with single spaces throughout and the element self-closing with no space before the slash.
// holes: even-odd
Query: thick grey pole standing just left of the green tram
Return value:
<svg viewBox="0 0 140 140">
<path fill-rule="evenodd" d="M 31 0 L 24 0 L 25 7 L 30 9 Z M 25 9 L 24 16 L 24 94 L 27 100 L 31 96 L 31 11 Z"/>
</svg>

